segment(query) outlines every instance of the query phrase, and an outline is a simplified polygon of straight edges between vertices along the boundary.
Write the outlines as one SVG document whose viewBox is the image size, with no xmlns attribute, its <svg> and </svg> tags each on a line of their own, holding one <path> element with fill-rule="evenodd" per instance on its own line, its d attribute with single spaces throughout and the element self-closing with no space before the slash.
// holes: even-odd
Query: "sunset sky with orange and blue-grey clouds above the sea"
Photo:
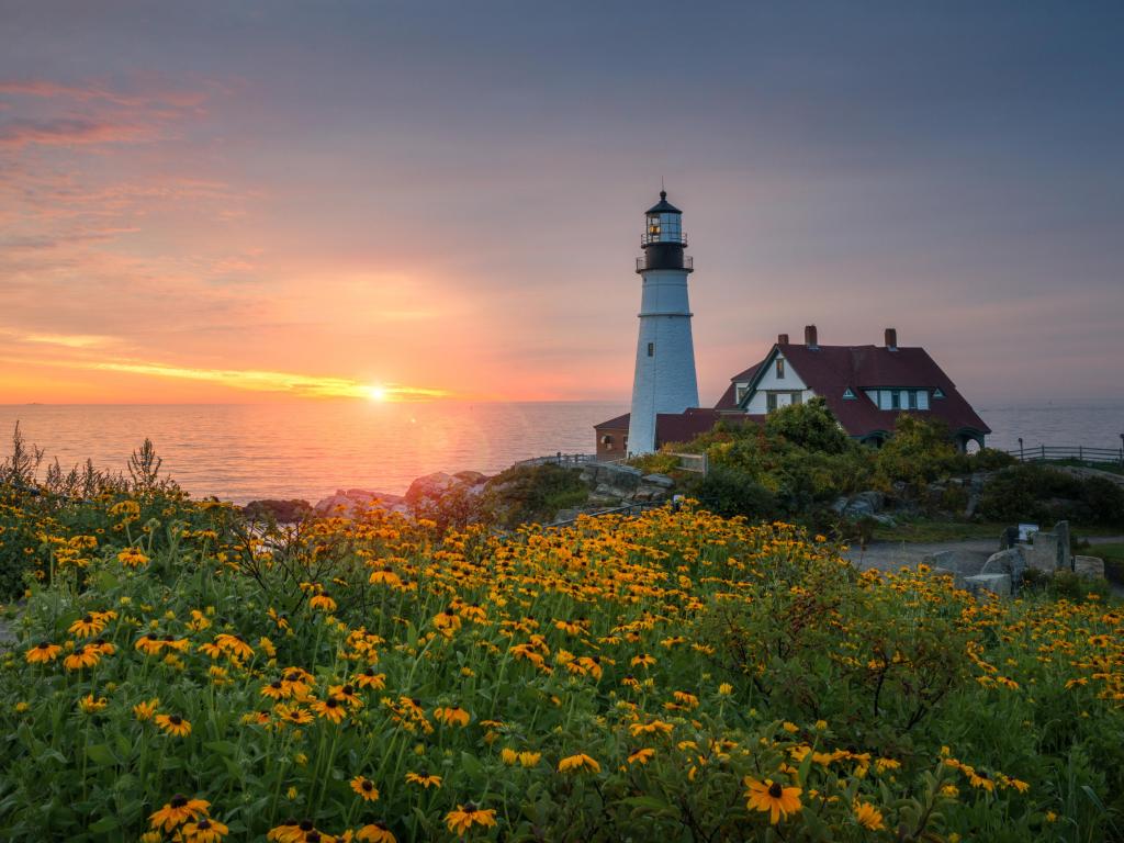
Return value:
<svg viewBox="0 0 1124 843">
<path fill-rule="evenodd" d="M 778 333 L 1124 397 L 1124 6 L 0 0 L 0 402 L 700 399 Z"/>
</svg>

